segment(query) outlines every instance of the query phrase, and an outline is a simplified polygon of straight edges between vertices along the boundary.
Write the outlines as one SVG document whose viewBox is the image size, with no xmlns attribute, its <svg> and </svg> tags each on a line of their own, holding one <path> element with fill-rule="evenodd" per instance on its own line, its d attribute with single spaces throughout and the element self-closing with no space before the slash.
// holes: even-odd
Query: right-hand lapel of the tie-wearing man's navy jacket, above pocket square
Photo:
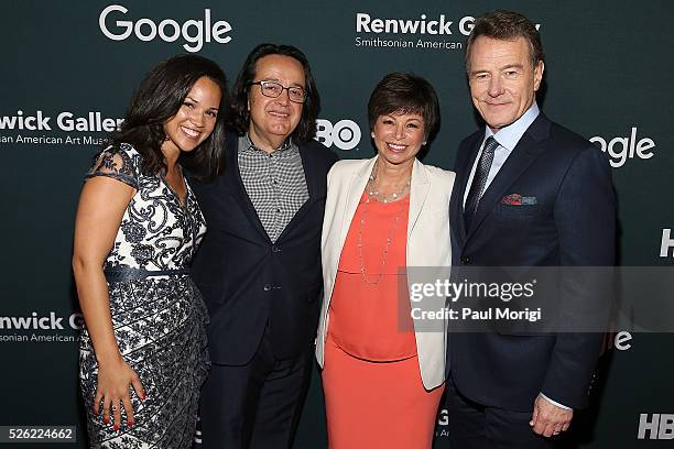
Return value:
<svg viewBox="0 0 674 449">
<path fill-rule="evenodd" d="M 543 150 L 539 143 L 547 138 L 548 130 L 550 121 L 541 113 L 529 127 L 529 130 L 524 132 L 520 142 L 480 198 L 478 209 L 470 223 L 470 229 L 467 230 L 467 239 L 470 238 L 489 212 L 493 210 L 508 188 L 535 161 Z"/>
</svg>

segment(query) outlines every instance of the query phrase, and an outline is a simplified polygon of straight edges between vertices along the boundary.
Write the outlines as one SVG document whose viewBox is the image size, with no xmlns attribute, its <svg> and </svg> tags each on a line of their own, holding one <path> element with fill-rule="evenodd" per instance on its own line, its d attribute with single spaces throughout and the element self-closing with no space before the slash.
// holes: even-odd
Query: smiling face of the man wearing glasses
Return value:
<svg viewBox="0 0 674 449">
<path fill-rule="evenodd" d="M 306 89 L 304 68 L 294 57 L 268 55 L 258 59 L 253 81 L 276 81 L 283 87 Z M 284 89 L 276 98 L 262 95 L 259 85 L 250 86 L 248 134 L 264 151 L 274 151 L 295 131 L 302 118 L 303 103 L 293 102 Z"/>
</svg>

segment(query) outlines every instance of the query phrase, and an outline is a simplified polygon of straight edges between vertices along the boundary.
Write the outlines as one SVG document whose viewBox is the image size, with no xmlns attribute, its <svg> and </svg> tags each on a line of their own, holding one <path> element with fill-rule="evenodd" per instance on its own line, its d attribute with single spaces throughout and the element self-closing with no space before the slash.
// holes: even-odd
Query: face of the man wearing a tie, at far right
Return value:
<svg viewBox="0 0 674 449">
<path fill-rule="evenodd" d="M 470 51 L 470 96 L 494 132 L 518 120 L 533 105 L 543 62 L 532 66 L 524 37 L 501 41 L 480 36 Z"/>
</svg>

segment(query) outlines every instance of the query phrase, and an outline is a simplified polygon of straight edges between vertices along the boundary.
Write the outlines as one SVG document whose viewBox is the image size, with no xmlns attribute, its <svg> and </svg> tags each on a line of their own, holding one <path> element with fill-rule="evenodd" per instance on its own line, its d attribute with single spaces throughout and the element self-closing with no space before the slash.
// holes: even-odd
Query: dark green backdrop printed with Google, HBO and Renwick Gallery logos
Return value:
<svg viewBox="0 0 674 449">
<path fill-rule="evenodd" d="M 373 154 L 366 107 L 377 81 L 391 72 L 416 73 L 435 86 L 442 106 L 425 162 L 453 168 L 458 142 L 479 124 L 463 47 L 474 18 L 492 9 L 517 10 L 540 24 L 546 69 L 539 103 L 608 153 L 620 264 L 673 265 L 670 1 L 0 3 L 0 426 L 75 426 L 77 441 L 59 447 L 86 447 L 77 380 L 83 320 L 70 272 L 75 208 L 91 156 L 151 67 L 199 53 L 233 80 L 254 45 L 296 45 L 322 96 L 317 138 L 343 158 Z M 565 446 L 666 447 L 674 438 L 674 338 L 616 331 L 593 406 L 577 414 Z M 448 447 L 447 419 L 441 410 L 438 448 Z M 326 447 L 316 372 L 295 447 Z"/>
</svg>

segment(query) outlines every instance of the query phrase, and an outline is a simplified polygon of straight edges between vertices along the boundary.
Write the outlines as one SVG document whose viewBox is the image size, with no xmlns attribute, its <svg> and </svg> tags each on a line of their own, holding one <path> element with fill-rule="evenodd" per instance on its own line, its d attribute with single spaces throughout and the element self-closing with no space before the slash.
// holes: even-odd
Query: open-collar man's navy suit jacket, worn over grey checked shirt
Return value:
<svg viewBox="0 0 674 449">
<path fill-rule="evenodd" d="M 192 183 L 208 227 L 193 276 L 210 315 L 210 357 L 248 363 L 268 324 L 275 357 L 294 357 L 316 337 L 326 179 L 337 157 L 318 142 L 298 144 L 309 199 L 272 243 L 241 180 L 238 136 L 228 133 L 226 142 L 222 174 Z"/>
</svg>

